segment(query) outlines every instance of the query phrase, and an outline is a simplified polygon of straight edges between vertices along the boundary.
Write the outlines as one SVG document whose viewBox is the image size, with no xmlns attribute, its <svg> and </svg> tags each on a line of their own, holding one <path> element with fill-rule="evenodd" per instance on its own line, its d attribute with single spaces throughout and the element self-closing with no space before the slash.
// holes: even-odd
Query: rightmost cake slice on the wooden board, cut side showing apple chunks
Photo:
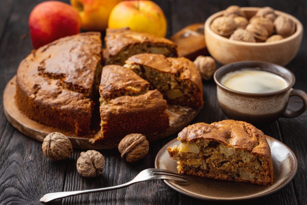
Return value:
<svg viewBox="0 0 307 205">
<path fill-rule="evenodd" d="M 196 65 L 185 57 L 142 53 L 129 57 L 124 65 L 159 90 L 170 104 L 203 106 L 203 87 Z"/>
</svg>

